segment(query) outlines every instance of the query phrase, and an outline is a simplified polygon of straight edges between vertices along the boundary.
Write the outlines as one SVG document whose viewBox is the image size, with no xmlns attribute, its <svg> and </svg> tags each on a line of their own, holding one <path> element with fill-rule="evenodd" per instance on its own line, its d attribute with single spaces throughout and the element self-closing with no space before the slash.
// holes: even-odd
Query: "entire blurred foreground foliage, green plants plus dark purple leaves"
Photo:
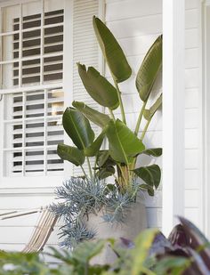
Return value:
<svg viewBox="0 0 210 275">
<path fill-rule="evenodd" d="M 0 275 L 210 275 L 209 242 L 198 228 L 180 217 L 168 239 L 158 230 L 141 232 L 134 243 L 101 239 L 83 242 L 73 251 L 51 248 L 52 262 L 43 255 L 0 252 Z M 116 253 L 115 263 L 93 264 L 104 246 Z M 57 261 L 56 261 L 57 260 Z"/>
</svg>

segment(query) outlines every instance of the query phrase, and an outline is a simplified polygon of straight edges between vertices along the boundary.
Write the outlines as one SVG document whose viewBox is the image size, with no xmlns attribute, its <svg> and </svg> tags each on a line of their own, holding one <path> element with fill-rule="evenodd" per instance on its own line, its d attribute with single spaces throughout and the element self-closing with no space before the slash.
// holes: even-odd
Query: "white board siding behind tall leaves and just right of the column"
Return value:
<svg viewBox="0 0 210 275">
<path fill-rule="evenodd" d="M 133 128 L 141 108 L 134 78 L 150 44 L 162 33 L 161 0 L 107 0 L 105 20 L 125 50 L 133 76 L 121 84 L 125 112 Z M 200 225 L 199 208 L 199 0 L 186 0 L 185 62 L 185 215 Z M 109 70 L 106 70 L 109 77 Z M 159 86 L 156 90 L 159 90 Z M 181 99 L 182 100 L 182 99 Z M 145 143 L 158 147 L 162 143 L 162 122 L 159 111 L 149 126 Z M 158 159 L 161 165 L 161 159 Z M 179 199 L 179 198 L 177 198 Z M 155 198 L 146 199 L 149 227 L 161 227 L 161 188 Z"/>
</svg>

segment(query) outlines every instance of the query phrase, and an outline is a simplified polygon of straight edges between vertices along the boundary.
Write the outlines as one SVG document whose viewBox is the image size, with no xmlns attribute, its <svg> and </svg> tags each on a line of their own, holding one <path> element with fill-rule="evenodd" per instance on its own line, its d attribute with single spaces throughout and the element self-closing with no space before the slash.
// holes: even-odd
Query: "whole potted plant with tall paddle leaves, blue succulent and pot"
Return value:
<svg viewBox="0 0 210 275">
<path fill-rule="evenodd" d="M 142 154 L 153 158 L 162 154 L 161 148 L 145 148 L 143 143 L 149 123 L 162 103 L 161 93 L 148 106 L 162 67 L 162 36 L 158 36 L 149 48 L 136 77 L 142 107 L 132 131 L 126 123 L 120 92 L 120 83 L 131 77 L 132 69 L 116 38 L 97 17 L 93 17 L 93 28 L 113 84 L 93 67 L 86 69 L 85 65 L 77 63 L 86 92 L 109 114 L 92 109 L 81 101 L 73 101 L 72 107 L 63 113 L 63 127 L 74 146 L 59 144 L 58 155 L 81 167 L 81 176 L 71 177 L 56 190 L 57 197 L 63 201 L 52 206 L 56 214 L 64 217 L 61 236 L 65 236 L 62 244 L 66 247 L 96 236 L 133 239 L 146 228 L 145 206 L 139 199 L 139 191 L 146 190 L 154 196 L 161 177 L 158 165 L 142 166 L 137 158 Z M 120 119 L 115 116 L 118 108 Z M 142 117 L 146 121 L 143 126 Z M 92 124 L 101 128 L 97 137 Z M 108 142 L 107 149 L 101 149 L 104 141 Z M 94 158 L 93 166 L 90 158 Z M 83 167 L 85 163 L 88 172 Z"/>
</svg>

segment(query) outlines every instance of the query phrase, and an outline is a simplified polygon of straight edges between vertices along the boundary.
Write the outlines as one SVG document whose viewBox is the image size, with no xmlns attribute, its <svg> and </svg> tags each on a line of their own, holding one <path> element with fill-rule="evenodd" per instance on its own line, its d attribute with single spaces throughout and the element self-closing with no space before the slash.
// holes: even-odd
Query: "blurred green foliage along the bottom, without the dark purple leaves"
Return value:
<svg viewBox="0 0 210 275">
<path fill-rule="evenodd" d="M 170 258 L 164 264 L 157 262 L 154 256 L 149 256 L 149 249 L 153 240 L 157 236 L 157 230 L 147 230 L 142 232 L 135 240 L 134 246 L 128 240 L 124 240 L 124 246 L 119 247 L 113 239 L 99 240 L 97 243 L 84 242 L 78 246 L 73 252 L 67 250 L 57 250 L 51 248 L 50 255 L 61 263 L 49 266 L 42 260 L 42 255 L 22 254 L 22 253 L 6 253 L 0 252 L 0 274 L 12 275 L 155 275 L 166 274 L 165 266 L 175 266 L 183 270 L 188 264 L 188 259 L 179 257 L 173 262 Z M 114 264 L 109 265 L 91 265 L 90 261 L 95 255 L 101 253 L 104 245 L 109 242 L 110 246 L 116 251 L 118 258 Z M 132 247 L 132 249 L 131 249 Z M 160 271 L 157 272 L 154 270 Z M 152 267 L 152 268 L 151 268 Z M 154 270 L 154 271 L 152 271 Z M 181 273 L 173 273 L 181 274 Z"/>
</svg>

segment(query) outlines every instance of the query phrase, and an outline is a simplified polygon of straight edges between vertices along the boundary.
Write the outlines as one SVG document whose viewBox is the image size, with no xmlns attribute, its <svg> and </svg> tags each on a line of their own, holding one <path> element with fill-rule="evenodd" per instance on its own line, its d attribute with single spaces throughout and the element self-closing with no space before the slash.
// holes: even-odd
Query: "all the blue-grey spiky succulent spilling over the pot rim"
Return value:
<svg viewBox="0 0 210 275">
<path fill-rule="evenodd" d="M 60 202 L 52 204 L 52 212 L 62 217 L 60 237 L 62 247 L 76 247 L 80 242 L 93 239 L 97 225 L 87 229 L 84 216 L 103 209 L 105 222 L 124 222 L 128 208 L 135 201 L 139 185 L 121 194 L 114 184 L 105 184 L 98 178 L 71 177 L 55 190 Z"/>
</svg>

